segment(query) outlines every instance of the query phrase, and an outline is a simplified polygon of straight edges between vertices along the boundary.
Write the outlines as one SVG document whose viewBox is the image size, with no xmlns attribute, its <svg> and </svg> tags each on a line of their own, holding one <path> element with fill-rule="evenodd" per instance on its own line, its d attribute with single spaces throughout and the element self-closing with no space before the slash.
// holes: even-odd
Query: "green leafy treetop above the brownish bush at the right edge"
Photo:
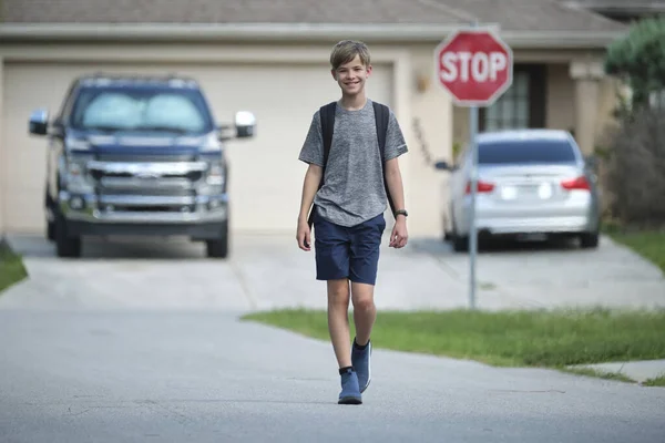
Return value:
<svg viewBox="0 0 665 443">
<path fill-rule="evenodd" d="M 665 17 L 634 23 L 623 39 L 607 48 L 605 71 L 624 79 L 635 104 L 665 89 Z"/>
</svg>

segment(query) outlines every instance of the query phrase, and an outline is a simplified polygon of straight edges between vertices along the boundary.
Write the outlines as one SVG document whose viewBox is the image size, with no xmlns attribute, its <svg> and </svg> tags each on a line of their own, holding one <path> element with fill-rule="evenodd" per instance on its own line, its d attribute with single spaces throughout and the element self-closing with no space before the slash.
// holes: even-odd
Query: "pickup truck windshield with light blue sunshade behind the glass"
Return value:
<svg viewBox="0 0 665 443">
<path fill-rule="evenodd" d="M 83 89 L 71 124 L 78 130 L 175 133 L 204 133 L 214 126 L 198 91 L 167 87 Z"/>
</svg>

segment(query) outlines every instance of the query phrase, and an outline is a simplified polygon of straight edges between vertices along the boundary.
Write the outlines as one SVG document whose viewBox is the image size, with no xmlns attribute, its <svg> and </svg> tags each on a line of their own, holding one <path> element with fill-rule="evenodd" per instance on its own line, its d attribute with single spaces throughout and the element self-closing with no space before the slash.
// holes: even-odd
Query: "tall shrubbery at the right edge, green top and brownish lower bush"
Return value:
<svg viewBox="0 0 665 443">
<path fill-rule="evenodd" d="M 606 134 L 605 189 L 610 215 L 624 225 L 665 225 L 665 107 L 649 96 L 665 91 L 665 18 L 633 23 L 607 49 L 605 71 L 632 99 L 620 101 L 617 127 Z"/>
</svg>

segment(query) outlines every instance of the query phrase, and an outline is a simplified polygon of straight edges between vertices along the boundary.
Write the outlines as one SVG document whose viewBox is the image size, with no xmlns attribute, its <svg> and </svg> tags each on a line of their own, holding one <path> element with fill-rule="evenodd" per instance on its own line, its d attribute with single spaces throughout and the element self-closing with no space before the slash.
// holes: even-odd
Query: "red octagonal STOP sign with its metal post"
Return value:
<svg viewBox="0 0 665 443">
<path fill-rule="evenodd" d="M 469 308 L 475 309 L 475 268 L 478 257 L 478 127 L 479 106 L 490 106 L 512 84 L 512 50 L 492 30 L 474 21 L 454 32 L 434 50 L 436 81 L 458 106 L 469 107 L 469 148 L 471 150 L 471 207 L 469 214 Z"/>
</svg>

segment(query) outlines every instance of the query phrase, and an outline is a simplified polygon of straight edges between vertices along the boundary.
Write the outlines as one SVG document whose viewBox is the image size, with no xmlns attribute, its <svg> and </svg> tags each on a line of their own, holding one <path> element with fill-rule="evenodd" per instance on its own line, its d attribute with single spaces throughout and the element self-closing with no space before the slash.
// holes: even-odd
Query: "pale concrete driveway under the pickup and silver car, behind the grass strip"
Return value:
<svg viewBox="0 0 665 443">
<path fill-rule="evenodd" d="M 236 236 L 228 261 L 205 258 L 186 241 L 93 240 L 84 257 L 63 260 L 39 237 L 11 236 L 30 281 L 0 306 L 49 309 L 325 308 L 325 285 L 314 279 L 314 253 L 290 236 Z M 377 286 L 380 309 L 464 308 L 469 256 L 438 239 L 383 248 Z M 559 306 L 665 306 L 665 276 L 607 238 L 597 250 L 574 245 L 507 246 L 478 256 L 477 306 L 483 309 Z M 44 296 L 44 293 L 48 293 Z"/>
</svg>

